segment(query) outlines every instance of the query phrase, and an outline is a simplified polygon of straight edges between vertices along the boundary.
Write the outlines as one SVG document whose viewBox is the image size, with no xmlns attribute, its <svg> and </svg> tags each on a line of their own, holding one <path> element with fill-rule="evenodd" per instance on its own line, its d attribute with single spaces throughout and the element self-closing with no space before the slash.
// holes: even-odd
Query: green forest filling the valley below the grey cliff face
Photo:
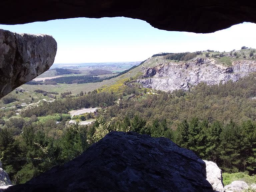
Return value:
<svg viewBox="0 0 256 192">
<path fill-rule="evenodd" d="M 167 137 L 212 160 L 224 172 L 256 173 L 256 78 L 199 85 L 184 92 L 154 91 L 133 80 L 117 91 L 102 89 L 42 102 L 23 110 L 4 109 L 0 151 L 13 182 L 32 177 L 78 156 L 111 130 Z M 89 125 L 67 124 L 68 111 L 100 107 Z"/>
</svg>

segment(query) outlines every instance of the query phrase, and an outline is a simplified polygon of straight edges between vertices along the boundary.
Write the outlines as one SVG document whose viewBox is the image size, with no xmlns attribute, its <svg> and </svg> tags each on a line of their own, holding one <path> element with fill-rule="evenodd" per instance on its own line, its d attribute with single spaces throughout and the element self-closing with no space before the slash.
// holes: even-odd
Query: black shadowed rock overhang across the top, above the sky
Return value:
<svg viewBox="0 0 256 192">
<path fill-rule="evenodd" d="M 209 33 L 256 22 L 255 1 L 231 0 L 12 0 L 1 1 L 0 23 L 20 24 L 75 17 L 130 17 L 168 31 Z"/>
</svg>

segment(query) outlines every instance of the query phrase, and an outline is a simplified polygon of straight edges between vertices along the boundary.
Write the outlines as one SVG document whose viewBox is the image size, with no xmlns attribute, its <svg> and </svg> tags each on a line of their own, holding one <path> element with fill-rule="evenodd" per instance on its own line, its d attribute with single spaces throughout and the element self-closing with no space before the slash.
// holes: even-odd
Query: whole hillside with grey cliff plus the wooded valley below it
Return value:
<svg viewBox="0 0 256 192">
<path fill-rule="evenodd" d="M 256 174 L 253 51 L 160 53 L 112 77 L 95 76 L 108 72 L 92 70 L 29 85 L 34 89 L 24 86 L 30 91 L 18 88 L 1 99 L 5 106 L 0 109 L 3 168 L 13 183 L 25 183 L 118 130 L 167 137 L 216 162 L 226 173 Z M 164 81 L 172 81 L 182 89 L 146 88 L 143 81 L 152 83 L 153 78 L 164 86 L 169 86 Z M 93 91 L 85 88 L 88 84 Z M 60 85 L 65 88 L 57 89 Z M 90 107 L 98 110 L 72 118 L 69 114 L 90 111 Z M 87 120 L 89 124 L 83 125 Z"/>
</svg>

